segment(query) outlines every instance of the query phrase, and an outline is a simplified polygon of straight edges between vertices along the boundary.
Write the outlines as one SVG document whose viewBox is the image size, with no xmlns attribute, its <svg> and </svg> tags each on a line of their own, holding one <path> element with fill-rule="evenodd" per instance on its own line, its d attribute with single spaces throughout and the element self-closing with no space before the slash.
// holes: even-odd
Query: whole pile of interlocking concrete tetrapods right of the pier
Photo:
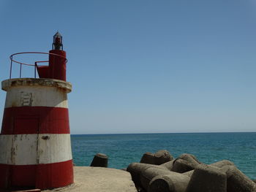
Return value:
<svg viewBox="0 0 256 192">
<path fill-rule="evenodd" d="M 165 157 L 161 154 L 167 154 L 165 150 L 157 153 L 159 158 Z M 255 181 L 246 177 L 232 161 L 222 160 L 206 165 L 198 161 L 195 155 L 184 153 L 176 159 L 156 165 L 157 153 L 144 153 L 141 161 L 151 164 L 133 163 L 128 166 L 127 171 L 132 174 L 138 191 L 256 192 Z"/>
</svg>

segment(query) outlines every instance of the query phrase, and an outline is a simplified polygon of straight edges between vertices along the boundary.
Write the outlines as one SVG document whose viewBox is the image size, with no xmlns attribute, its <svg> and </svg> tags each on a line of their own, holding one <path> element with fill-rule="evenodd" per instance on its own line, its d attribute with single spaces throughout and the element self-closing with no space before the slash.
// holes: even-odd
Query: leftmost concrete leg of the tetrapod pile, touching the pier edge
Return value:
<svg viewBox="0 0 256 192">
<path fill-rule="evenodd" d="M 132 175 L 132 180 L 135 183 L 136 186 L 141 186 L 140 183 L 140 174 L 150 167 L 159 167 L 157 165 L 152 164 L 141 164 L 141 163 L 132 163 L 129 164 L 127 167 L 127 172 L 129 172 Z M 166 169 L 165 167 L 161 167 L 159 169 Z M 167 170 L 167 169 L 166 169 Z"/>
</svg>

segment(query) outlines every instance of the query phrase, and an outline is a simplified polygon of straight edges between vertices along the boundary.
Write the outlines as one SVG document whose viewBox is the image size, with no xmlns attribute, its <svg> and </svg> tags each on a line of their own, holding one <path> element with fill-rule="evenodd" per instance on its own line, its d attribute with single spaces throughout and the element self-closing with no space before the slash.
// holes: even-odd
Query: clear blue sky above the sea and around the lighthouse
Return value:
<svg viewBox="0 0 256 192">
<path fill-rule="evenodd" d="M 63 35 L 72 134 L 256 131 L 255 0 L 0 0 L 0 24 L 1 80 Z"/>
</svg>

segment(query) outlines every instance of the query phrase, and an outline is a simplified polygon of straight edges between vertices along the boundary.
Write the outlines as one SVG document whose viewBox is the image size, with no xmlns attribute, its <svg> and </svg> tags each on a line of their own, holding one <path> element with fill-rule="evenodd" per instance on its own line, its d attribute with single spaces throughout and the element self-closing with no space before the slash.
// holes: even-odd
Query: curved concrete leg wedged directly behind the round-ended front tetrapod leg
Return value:
<svg viewBox="0 0 256 192">
<path fill-rule="evenodd" d="M 140 183 L 141 186 L 147 190 L 148 189 L 148 185 L 151 182 L 151 180 L 158 176 L 158 175 L 162 175 L 162 174 L 170 174 L 170 171 L 168 169 L 165 169 L 162 166 L 158 166 L 158 167 L 149 167 L 148 169 L 143 170 L 143 172 L 141 172 L 140 174 Z"/>
</svg>

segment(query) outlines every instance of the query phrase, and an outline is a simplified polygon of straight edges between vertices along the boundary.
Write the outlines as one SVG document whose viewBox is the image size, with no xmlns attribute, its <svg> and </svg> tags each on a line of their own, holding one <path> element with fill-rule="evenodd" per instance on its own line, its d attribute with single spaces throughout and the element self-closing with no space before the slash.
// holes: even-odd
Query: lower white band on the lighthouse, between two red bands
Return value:
<svg viewBox="0 0 256 192">
<path fill-rule="evenodd" d="M 72 160 L 69 134 L 0 135 L 0 146 L 3 146 L 0 164 L 53 164 Z M 15 158 L 11 153 L 15 153 Z"/>
</svg>

